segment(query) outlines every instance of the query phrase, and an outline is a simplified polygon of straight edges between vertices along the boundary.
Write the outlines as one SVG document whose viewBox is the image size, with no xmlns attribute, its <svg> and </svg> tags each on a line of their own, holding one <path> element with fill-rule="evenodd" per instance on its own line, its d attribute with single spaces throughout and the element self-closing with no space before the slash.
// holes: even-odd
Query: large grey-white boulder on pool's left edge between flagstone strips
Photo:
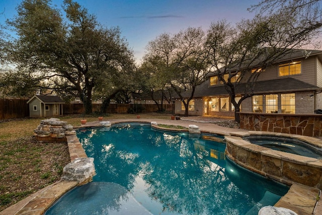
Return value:
<svg viewBox="0 0 322 215">
<path fill-rule="evenodd" d="M 76 158 L 63 168 L 61 179 L 82 185 L 92 181 L 94 175 L 94 158 Z"/>
</svg>

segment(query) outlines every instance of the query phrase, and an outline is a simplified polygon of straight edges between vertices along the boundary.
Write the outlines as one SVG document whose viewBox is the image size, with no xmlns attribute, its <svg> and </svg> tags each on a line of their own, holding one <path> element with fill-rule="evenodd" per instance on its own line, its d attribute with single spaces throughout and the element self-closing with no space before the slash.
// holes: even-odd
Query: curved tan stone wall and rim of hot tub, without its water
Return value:
<svg viewBox="0 0 322 215">
<path fill-rule="evenodd" d="M 268 133 L 249 131 L 235 132 L 231 133 L 232 136 L 225 136 L 226 156 L 240 166 L 281 183 L 291 185 L 295 182 L 322 189 L 322 160 L 272 150 L 251 144 L 241 138 L 250 134 Z M 285 135 L 293 138 L 298 136 Z M 314 137 L 306 137 L 306 141 L 312 145 L 322 146 L 322 140 Z"/>
</svg>

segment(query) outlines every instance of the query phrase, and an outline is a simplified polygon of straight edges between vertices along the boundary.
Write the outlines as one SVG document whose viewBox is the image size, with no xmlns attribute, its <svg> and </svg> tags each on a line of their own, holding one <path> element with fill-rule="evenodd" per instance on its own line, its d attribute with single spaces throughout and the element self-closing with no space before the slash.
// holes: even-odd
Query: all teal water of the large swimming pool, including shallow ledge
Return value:
<svg viewBox="0 0 322 215">
<path fill-rule="evenodd" d="M 226 160 L 221 136 L 189 136 L 137 123 L 82 129 L 77 136 L 94 158 L 97 175 L 65 194 L 47 215 L 251 215 L 289 189 Z"/>
</svg>

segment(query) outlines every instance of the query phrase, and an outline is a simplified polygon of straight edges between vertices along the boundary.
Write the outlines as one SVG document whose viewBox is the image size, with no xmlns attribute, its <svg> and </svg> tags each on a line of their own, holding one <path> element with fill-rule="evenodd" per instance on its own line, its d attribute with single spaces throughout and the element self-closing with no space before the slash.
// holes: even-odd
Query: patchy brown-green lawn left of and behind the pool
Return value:
<svg viewBox="0 0 322 215">
<path fill-rule="evenodd" d="M 141 118 L 170 119 L 170 114 L 140 114 Z M 58 117 L 79 126 L 83 116 Z M 97 116 L 85 116 L 88 122 Z M 103 120 L 134 119 L 135 114 L 105 115 Z M 0 122 L 0 211 L 26 196 L 58 181 L 70 162 L 66 143 L 39 142 L 34 129 L 42 119 L 23 118 Z"/>
</svg>

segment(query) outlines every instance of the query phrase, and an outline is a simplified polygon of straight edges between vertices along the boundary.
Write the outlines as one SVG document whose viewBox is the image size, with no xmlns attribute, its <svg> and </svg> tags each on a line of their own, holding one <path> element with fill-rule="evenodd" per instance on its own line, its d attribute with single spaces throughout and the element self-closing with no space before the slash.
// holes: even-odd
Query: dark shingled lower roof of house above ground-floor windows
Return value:
<svg viewBox="0 0 322 215">
<path fill-rule="evenodd" d="M 240 83 L 236 86 L 236 94 L 244 92 L 246 83 Z M 314 85 L 307 84 L 294 78 L 274 79 L 268 81 L 259 81 L 255 83 L 254 94 L 263 93 L 279 93 L 279 92 L 295 92 L 295 91 L 307 91 L 321 89 Z M 184 97 L 188 97 L 190 91 L 183 93 Z M 223 85 L 208 87 L 208 81 L 205 81 L 201 85 L 197 86 L 194 97 L 203 96 L 227 96 L 228 93 Z"/>
</svg>

